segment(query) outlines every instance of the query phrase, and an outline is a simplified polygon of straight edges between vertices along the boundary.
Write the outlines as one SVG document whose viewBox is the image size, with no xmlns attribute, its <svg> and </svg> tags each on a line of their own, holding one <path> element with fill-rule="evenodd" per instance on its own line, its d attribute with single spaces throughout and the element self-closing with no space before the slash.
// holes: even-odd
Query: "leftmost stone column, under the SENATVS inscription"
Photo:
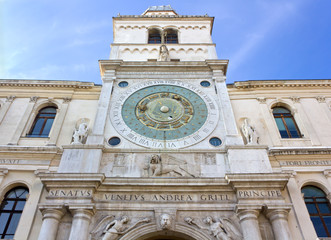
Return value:
<svg viewBox="0 0 331 240">
<path fill-rule="evenodd" d="M 55 240 L 60 220 L 65 213 L 62 206 L 43 206 L 40 208 L 43 215 L 38 240 Z"/>
</svg>

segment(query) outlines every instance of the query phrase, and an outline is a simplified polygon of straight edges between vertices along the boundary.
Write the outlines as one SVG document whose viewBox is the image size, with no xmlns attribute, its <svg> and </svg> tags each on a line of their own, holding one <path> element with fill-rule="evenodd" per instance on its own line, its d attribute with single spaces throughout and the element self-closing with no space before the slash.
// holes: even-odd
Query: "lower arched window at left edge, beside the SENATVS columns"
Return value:
<svg viewBox="0 0 331 240">
<path fill-rule="evenodd" d="M 27 188 L 9 191 L 0 206 L 0 239 L 13 239 L 26 202 Z"/>
</svg>

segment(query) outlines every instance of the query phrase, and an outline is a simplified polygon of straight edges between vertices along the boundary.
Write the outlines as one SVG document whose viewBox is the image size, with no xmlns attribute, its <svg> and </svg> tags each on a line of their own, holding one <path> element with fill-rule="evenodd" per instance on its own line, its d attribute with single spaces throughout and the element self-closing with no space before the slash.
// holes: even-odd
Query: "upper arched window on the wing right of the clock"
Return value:
<svg viewBox="0 0 331 240">
<path fill-rule="evenodd" d="M 288 109 L 275 107 L 272 112 L 282 138 L 301 138 L 299 128 Z"/>
</svg>

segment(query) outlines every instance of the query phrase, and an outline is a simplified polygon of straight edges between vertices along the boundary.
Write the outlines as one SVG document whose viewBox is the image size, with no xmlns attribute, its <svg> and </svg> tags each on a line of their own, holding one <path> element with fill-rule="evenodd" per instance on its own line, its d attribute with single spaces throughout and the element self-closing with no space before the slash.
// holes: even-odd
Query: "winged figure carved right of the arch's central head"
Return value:
<svg viewBox="0 0 331 240">
<path fill-rule="evenodd" d="M 212 217 L 208 216 L 203 219 L 203 222 L 209 227 L 200 226 L 193 218 L 186 217 L 184 221 L 189 225 L 195 225 L 199 229 L 208 230 L 209 234 L 213 235 L 217 240 L 241 240 L 243 236 L 239 229 L 228 218 L 219 218 L 214 221 Z"/>
</svg>

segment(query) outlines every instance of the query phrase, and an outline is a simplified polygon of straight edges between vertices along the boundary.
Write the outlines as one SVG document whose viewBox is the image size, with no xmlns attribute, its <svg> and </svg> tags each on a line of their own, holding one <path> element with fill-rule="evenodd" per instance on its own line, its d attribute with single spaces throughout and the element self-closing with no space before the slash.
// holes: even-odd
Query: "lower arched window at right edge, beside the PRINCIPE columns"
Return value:
<svg viewBox="0 0 331 240">
<path fill-rule="evenodd" d="M 301 189 L 318 237 L 331 237 L 331 206 L 325 193 L 314 186 Z"/>
</svg>

